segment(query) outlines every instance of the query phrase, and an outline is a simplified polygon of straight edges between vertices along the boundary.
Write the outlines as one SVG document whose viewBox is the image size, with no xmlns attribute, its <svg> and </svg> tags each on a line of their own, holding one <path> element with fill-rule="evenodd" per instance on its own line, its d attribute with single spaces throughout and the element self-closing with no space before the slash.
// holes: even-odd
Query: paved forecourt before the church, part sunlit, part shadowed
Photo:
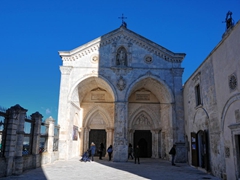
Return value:
<svg viewBox="0 0 240 180">
<path fill-rule="evenodd" d="M 185 163 L 172 166 L 169 161 L 161 159 L 140 159 L 140 164 L 128 162 L 112 162 L 107 158 L 93 162 L 80 162 L 80 157 L 68 161 L 57 161 L 51 165 L 25 171 L 20 176 L 0 178 L 1 180 L 200 180 L 218 178 L 191 167 Z"/>
</svg>

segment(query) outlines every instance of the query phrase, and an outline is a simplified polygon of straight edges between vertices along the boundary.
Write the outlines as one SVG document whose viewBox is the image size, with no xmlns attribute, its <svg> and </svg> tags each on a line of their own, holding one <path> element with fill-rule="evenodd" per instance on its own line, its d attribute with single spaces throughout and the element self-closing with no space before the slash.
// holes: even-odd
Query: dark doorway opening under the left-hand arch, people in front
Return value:
<svg viewBox="0 0 240 180">
<path fill-rule="evenodd" d="M 103 143 L 103 145 L 104 145 L 103 156 L 105 156 L 105 153 L 106 153 L 106 131 L 102 130 L 102 129 L 91 129 L 91 131 L 89 132 L 88 147 L 90 147 L 92 142 L 94 142 L 94 144 L 96 146 L 95 156 L 99 156 L 98 149 L 100 147 L 100 144 Z"/>
</svg>

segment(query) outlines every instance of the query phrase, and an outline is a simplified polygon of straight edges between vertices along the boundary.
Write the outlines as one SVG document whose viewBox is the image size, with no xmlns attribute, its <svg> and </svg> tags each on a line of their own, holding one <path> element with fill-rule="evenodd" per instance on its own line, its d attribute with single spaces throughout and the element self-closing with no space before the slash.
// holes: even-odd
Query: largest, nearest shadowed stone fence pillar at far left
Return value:
<svg viewBox="0 0 240 180">
<path fill-rule="evenodd" d="M 7 110 L 8 126 L 4 153 L 7 164 L 7 176 L 12 174 L 20 175 L 23 172 L 22 149 L 26 112 L 27 110 L 20 105 L 15 105 Z"/>
</svg>

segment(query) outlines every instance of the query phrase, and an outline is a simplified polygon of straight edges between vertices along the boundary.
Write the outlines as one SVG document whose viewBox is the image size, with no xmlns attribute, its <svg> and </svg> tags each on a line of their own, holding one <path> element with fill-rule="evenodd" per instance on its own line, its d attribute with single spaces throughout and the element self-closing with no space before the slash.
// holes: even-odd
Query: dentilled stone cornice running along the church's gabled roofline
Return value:
<svg viewBox="0 0 240 180">
<path fill-rule="evenodd" d="M 135 44 L 141 48 L 146 49 L 149 53 L 155 54 L 156 56 L 159 56 L 160 58 L 172 63 L 181 63 L 186 55 L 184 53 L 173 53 L 166 48 L 128 29 L 123 28 L 119 28 L 113 32 L 110 32 L 83 46 L 73 49 L 72 51 L 59 51 L 59 55 L 63 61 L 76 61 L 88 54 L 99 51 L 100 47 L 104 47 L 109 44 L 112 44 L 114 46 L 120 39 L 127 40 L 129 46 Z"/>
</svg>

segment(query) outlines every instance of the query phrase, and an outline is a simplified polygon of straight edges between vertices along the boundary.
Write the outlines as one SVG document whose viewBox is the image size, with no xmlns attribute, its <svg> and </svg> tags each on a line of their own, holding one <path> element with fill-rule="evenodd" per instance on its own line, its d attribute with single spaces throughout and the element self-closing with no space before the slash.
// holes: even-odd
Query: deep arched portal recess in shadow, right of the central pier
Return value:
<svg viewBox="0 0 240 180">
<path fill-rule="evenodd" d="M 173 139 L 174 131 L 170 129 L 174 128 L 175 124 L 172 122 L 174 119 L 171 102 L 172 91 L 167 84 L 151 75 L 138 79 L 128 91 L 129 142 L 136 143 L 137 131 L 148 131 L 151 134 L 151 140 L 148 140 L 150 143 L 147 145 L 151 145 L 151 149 L 148 149 L 148 154 L 144 156 L 149 157 L 151 154 L 152 158 L 159 158 L 161 154 L 167 154 L 172 146 L 172 141 L 169 140 Z"/>
</svg>

